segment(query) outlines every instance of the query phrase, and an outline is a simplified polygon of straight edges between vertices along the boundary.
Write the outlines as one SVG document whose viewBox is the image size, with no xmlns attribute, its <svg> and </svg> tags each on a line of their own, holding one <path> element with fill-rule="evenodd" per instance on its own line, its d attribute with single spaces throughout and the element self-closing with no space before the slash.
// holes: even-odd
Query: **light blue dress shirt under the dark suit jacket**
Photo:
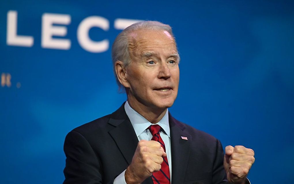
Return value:
<svg viewBox="0 0 294 184">
<path fill-rule="evenodd" d="M 128 115 L 134 130 L 136 132 L 136 135 L 138 137 L 138 140 L 151 140 L 152 134 L 147 129 L 150 125 L 154 125 L 148 120 L 146 120 L 145 117 L 141 116 L 138 112 L 133 110 L 133 108 L 128 104 L 128 101 L 125 103 L 125 111 Z M 164 145 L 166 147 L 166 155 L 168 160 L 168 166 L 169 166 L 169 173 L 171 176 L 171 134 L 169 129 L 169 122 L 168 122 L 168 110 L 166 110 L 165 115 L 163 118 L 156 123 L 157 125 L 160 125 L 161 128 L 164 130 L 160 131 L 160 136 L 164 142 Z M 146 130 L 147 129 L 147 130 Z M 113 184 L 126 184 L 125 180 L 125 172 L 124 170 L 120 175 L 118 175 L 115 179 Z"/>
</svg>

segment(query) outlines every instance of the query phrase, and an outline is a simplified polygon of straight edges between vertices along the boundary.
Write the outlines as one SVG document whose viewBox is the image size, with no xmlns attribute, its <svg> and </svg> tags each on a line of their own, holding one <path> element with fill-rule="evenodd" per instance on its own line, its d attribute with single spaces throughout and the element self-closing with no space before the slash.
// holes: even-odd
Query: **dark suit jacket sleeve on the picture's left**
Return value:
<svg viewBox="0 0 294 184">
<path fill-rule="evenodd" d="M 64 153 L 66 164 L 63 184 L 103 183 L 101 163 L 83 135 L 74 130 L 69 132 L 64 141 Z"/>
</svg>

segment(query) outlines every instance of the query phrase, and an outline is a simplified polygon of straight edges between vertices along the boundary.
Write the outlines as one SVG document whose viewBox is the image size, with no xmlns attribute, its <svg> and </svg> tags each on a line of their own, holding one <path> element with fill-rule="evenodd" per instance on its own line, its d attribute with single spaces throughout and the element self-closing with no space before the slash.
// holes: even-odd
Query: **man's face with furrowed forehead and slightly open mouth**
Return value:
<svg viewBox="0 0 294 184">
<path fill-rule="evenodd" d="M 167 31 L 138 30 L 129 45 L 131 63 L 126 67 L 131 105 L 165 109 L 178 94 L 180 70 L 176 43 Z"/>
</svg>

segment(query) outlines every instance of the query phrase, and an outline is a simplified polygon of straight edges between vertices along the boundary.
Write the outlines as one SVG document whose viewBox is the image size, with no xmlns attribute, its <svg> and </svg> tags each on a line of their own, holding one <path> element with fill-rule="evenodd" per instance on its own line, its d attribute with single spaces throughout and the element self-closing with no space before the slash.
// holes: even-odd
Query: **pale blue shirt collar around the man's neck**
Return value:
<svg viewBox="0 0 294 184">
<path fill-rule="evenodd" d="M 134 130 L 136 132 L 137 137 L 144 132 L 150 125 L 154 125 L 148 120 L 146 120 L 145 117 L 140 115 L 138 112 L 133 110 L 133 108 L 128 104 L 128 101 L 125 103 L 125 111 L 128 115 Z M 165 115 L 162 117 L 162 119 L 156 123 L 157 125 L 160 125 L 161 128 L 164 130 L 166 135 L 170 138 L 170 129 L 169 129 L 169 123 L 168 123 L 168 109 L 166 110 Z"/>
</svg>

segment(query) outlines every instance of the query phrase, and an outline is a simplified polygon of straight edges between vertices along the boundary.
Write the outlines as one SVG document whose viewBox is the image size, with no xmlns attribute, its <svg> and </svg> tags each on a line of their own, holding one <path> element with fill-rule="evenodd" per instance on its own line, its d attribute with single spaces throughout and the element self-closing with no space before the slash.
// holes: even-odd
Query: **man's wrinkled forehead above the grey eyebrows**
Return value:
<svg viewBox="0 0 294 184">
<path fill-rule="evenodd" d="M 171 52 L 177 52 L 175 40 L 165 30 L 137 30 L 129 34 L 128 49 L 131 56 L 166 47 L 170 47 Z"/>
</svg>

